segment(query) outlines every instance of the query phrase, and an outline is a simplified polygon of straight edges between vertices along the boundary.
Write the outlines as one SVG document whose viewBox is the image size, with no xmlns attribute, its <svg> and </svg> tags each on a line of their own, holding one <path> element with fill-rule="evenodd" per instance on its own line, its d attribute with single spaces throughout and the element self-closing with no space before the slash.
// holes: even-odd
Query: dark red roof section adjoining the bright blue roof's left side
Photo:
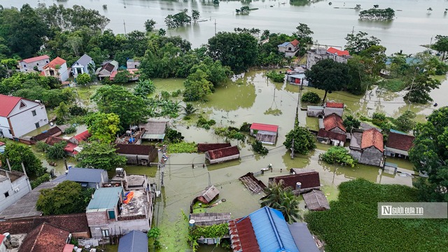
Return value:
<svg viewBox="0 0 448 252">
<path fill-rule="evenodd" d="M 249 216 L 229 221 L 229 232 L 233 251 L 260 252 Z"/>
</svg>

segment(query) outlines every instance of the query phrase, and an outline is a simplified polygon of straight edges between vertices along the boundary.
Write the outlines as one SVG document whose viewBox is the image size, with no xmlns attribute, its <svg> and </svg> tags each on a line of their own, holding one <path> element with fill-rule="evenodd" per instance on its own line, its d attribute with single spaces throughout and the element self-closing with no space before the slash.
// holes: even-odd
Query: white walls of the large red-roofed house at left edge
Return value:
<svg viewBox="0 0 448 252">
<path fill-rule="evenodd" d="M 20 109 L 21 102 L 25 103 L 27 106 Z M 22 99 L 21 102 L 18 102 L 9 116 L 10 124 L 13 127 L 14 137 L 22 137 L 23 135 L 36 130 L 35 123 L 39 123 L 39 127 L 48 124 L 48 116 L 47 111 L 45 111 L 45 106 L 26 99 Z M 36 116 L 33 116 L 32 114 L 32 111 L 34 110 L 36 111 Z"/>
</svg>

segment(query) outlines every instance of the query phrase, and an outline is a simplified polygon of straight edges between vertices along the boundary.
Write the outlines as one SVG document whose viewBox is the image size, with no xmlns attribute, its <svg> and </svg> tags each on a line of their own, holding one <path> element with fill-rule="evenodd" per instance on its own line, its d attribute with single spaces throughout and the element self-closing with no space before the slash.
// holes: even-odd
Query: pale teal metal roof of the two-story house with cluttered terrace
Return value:
<svg viewBox="0 0 448 252">
<path fill-rule="evenodd" d="M 118 204 L 118 200 L 120 200 L 120 193 L 123 196 L 123 188 L 121 186 L 98 188 L 87 206 L 87 212 L 95 209 L 113 209 Z"/>
</svg>

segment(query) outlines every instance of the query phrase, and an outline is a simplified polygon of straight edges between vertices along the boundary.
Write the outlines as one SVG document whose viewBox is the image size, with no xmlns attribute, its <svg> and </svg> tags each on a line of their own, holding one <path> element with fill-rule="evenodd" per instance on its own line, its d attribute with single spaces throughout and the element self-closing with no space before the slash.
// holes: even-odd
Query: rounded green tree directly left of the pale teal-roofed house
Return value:
<svg viewBox="0 0 448 252">
<path fill-rule="evenodd" d="M 42 189 L 36 209 L 43 215 L 76 214 L 85 212 L 93 188 L 83 189 L 80 183 L 63 181 L 55 188 Z"/>
</svg>

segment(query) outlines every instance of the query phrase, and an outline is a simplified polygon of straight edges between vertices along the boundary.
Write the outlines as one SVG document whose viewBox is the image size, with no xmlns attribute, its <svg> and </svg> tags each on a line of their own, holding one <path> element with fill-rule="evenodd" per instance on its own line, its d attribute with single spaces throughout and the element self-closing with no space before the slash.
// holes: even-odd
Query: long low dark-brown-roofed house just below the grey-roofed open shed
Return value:
<svg viewBox="0 0 448 252">
<path fill-rule="evenodd" d="M 127 164 L 150 165 L 157 156 L 157 149 L 152 145 L 116 144 L 116 153 L 127 158 Z"/>
</svg>

